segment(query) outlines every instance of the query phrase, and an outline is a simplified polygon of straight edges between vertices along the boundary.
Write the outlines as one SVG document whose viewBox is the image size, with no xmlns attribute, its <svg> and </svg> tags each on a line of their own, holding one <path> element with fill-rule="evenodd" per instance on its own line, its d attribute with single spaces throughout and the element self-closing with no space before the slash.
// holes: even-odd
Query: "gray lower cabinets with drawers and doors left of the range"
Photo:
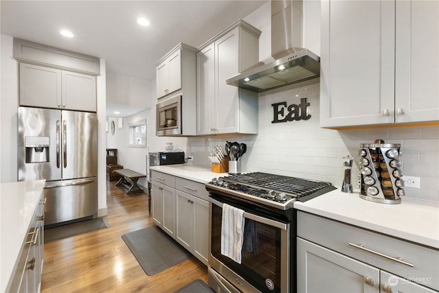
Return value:
<svg viewBox="0 0 439 293">
<path fill-rule="evenodd" d="M 204 184 L 152 171 L 152 219 L 207 266 L 209 192 Z"/>
</svg>

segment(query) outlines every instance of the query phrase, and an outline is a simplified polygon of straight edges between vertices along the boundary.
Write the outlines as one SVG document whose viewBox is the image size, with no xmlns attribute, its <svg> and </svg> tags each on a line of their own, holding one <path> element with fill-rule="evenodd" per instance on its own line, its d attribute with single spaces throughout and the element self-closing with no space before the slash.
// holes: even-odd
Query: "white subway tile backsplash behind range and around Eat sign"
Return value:
<svg viewBox="0 0 439 293">
<path fill-rule="evenodd" d="M 342 157 L 353 156 L 351 174 L 354 189 L 359 175 L 359 145 L 383 139 L 400 143 L 403 174 L 420 176 L 421 188 L 405 188 L 410 198 L 439 202 L 439 126 L 330 130 L 320 128 L 320 84 L 316 80 L 294 84 L 259 94 L 259 134 L 219 137 L 189 137 L 188 153 L 195 165 L 210 167 L 207 159 L 214 145 L 224 148 L 226 141 L 247 144 L 241 161 L 243 172 L 268 172 L 331 182 L 340 187 L 344 175 Z M 298 95 L 298 96 L 296 96 Z M 272 124 L 272 104 L 309 102 L 308 120 Z"/>
</svg>

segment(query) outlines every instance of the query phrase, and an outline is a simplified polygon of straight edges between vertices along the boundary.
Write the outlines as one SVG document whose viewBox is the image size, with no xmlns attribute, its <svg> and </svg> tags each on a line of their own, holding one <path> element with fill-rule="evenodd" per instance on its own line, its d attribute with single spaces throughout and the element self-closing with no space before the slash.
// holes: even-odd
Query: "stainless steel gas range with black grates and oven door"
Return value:
<svg viewBox="0 0 439 293">
<path fill-rule="evenodd" d="M 209 191 L 209 286 L 216 292 L 296 291 L 296 200 L 331 183 L 254 172 L 214 178 Z M 223 207 L 244 215 L 240 263 L 222 254 Z"/>
</svg>

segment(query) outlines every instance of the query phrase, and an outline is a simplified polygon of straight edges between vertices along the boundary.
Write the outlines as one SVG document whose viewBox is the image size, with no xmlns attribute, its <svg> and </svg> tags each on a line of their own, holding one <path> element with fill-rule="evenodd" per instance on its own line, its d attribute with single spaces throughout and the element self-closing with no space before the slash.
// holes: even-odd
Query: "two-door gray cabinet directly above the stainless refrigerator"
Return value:
<svg viewBox="0 0 439 293">
<path fill-rule="evenodd" d="M 96 112 L 96 77 L 20 63 L 20 106 Z"/>
</svg>

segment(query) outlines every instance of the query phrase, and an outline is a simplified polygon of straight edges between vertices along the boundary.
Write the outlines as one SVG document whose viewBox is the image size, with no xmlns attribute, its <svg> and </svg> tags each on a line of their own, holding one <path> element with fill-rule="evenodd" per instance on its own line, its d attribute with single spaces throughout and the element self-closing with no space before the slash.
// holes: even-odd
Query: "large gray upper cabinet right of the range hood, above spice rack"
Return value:
<svg viewBox="0 0 439 293">
<path fill-rule="evenodd" d="M 439 2 L 322 1 L 320 126 L 439 120 Z"/>
</svg>

